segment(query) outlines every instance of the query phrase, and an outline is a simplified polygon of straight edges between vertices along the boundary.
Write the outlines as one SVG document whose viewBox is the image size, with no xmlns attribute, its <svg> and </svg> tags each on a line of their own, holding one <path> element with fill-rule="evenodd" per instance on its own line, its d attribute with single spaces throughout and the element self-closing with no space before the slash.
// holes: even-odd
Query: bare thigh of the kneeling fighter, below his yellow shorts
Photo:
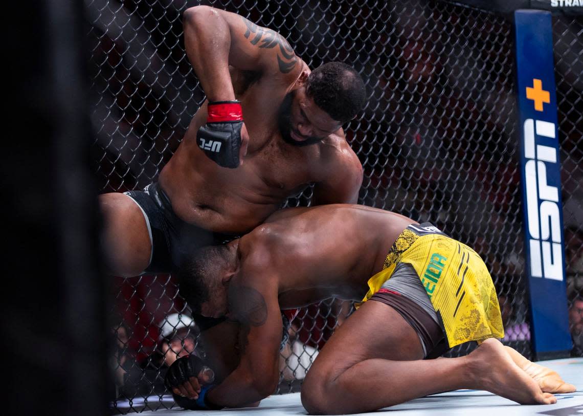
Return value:
<svg viewBox="0 0 583 416">
<path fill-rule="evenodd" d="M 310 371 L 335 377 L 360 361 L 423 359 L 419 335 L 395 309 L 368 300 L 336 329 Z"/>
</svg>

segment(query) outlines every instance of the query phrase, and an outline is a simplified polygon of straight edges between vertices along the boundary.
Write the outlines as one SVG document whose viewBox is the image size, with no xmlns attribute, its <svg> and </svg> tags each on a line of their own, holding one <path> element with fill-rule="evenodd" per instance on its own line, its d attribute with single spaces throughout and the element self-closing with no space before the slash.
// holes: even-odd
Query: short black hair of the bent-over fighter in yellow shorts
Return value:
<svg viewBox="0 0 583 416">
<path fill-rule="evenodd" d="M 226 264 L 226 246 L 208 246 L 195 251 L 178 270 L 178 293 L 192 312 L 201 313 L 201 305 L 209 300 L 209 282 Z"/>
</svg>

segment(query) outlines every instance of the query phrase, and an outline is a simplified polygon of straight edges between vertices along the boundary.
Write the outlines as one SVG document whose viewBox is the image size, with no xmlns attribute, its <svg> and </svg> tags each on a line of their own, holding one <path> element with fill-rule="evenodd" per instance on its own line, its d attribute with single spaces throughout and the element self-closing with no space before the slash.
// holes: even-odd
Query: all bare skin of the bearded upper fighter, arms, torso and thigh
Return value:
<svg viewBox="0 0 583 416">
<path fill-rule="evenodd" d="M 244 233 L 263 222 L 287 197 L 314 184 L 312 204 L 356 202 L 362 166 L 341 124 L 305 93 L 310 69 L 273 30 L 234 13 L 196 6 L 183 16 L 189 60 L 208 100 L 159 176 L 175 214 L 187 223 L 220 233 Z M 291 138 L 322 141 L 296 146 L 282 139 L 278 114 L 284 97 Z M 220 167 L 199 148 L 196 132 L 206 123 L 208 102 L 240 100 L 244 126 L 242 164 Z M 142 212 L 124 194 L 104 194 L 104 247 L 116 275 L 147 267 L 150 240 Z"/>
</svg>

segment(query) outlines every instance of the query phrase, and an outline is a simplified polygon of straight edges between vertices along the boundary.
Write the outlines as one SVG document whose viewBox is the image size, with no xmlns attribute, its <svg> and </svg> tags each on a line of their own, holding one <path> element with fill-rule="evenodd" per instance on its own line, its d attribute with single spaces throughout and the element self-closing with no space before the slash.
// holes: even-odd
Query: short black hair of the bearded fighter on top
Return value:
<svg viewBox="0 0 583 416">
<path fill-rule="evenodd" d="M 344 124 L 364 107 L 366 88 L 356 69 L 343 62 L 328 62 L 314 69 L 306 93 L 330 117 Z"/>
</svg>

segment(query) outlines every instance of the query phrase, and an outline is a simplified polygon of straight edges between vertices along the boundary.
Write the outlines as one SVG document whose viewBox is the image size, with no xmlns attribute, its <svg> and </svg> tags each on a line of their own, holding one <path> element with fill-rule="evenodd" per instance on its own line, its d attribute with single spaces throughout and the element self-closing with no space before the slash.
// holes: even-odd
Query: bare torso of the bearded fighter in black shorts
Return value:
<svg viewBox="0 0 583 416">
<path fill-rule="evenodd" d="M 206 123 L 205 102 L 159 181 L 183 221 L 215 232 L 243 233 L 318 179 L 313 166 L 322 144 L 296 147 L 280 136 L 277 114 L 293 83 L 268 77 L 249 81 L 233 71 L 231 78 L 250 137 L 243 165 L 220 167 L 199 148 L 196 132 Z"/>
</svg>

